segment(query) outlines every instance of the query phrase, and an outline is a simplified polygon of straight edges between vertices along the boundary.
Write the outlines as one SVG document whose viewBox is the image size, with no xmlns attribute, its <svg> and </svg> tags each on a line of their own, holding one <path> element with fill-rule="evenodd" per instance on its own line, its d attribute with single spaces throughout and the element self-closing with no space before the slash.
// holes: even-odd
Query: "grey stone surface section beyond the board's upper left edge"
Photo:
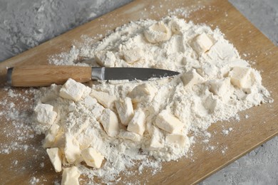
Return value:
<svg viewBox="0 0 278 185">
<path fill-rule="evenodd" d="M 0 61 L 131 0 L 0 0 Z"/>
</svg>

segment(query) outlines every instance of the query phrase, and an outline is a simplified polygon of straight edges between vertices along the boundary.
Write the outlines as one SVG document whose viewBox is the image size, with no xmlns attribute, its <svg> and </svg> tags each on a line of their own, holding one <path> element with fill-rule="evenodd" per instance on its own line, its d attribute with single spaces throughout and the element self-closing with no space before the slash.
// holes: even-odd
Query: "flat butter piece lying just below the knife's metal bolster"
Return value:
<svg viewBox="0 0 278 185">
<path fill-rule="evenodd" d="M 92 90 L 91 96 L 95 97 L 98 102 L 105 108 L 110 108 L 113 102 L 116 100 L 115 95 L 109 95 L 108 93 Z"/>
</svg>

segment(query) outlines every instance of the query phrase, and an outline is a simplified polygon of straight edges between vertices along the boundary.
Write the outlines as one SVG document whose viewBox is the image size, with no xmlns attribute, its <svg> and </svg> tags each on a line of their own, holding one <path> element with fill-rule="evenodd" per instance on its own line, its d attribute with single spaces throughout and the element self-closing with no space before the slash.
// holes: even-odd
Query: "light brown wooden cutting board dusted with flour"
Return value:
<svg viewBox="0 0 278 185">
<path fill-rule="evenodd" d="M 209 144 L 203 143 L 201 136 L 198 137 L 196 144 L 192 147 L 192 157 L 182 158 L 178 162 L 165 162 L 163 169 L 157 174 L 153 175 L 144 171 L 136 176 L 122 176 L 120 181 L 140 181 L 140 183 L 147 184 L 196 184 L 278 133 L 278 48 L 257 28 L 254 28 L 228 1 L 133 1 L 120 9 L 0 63 L 1 83 L 4 82 L 4 75 L 6 75 L 6 67 L 8 66 L 47 64 L 49 56 L 62 51 L 69 51 L 73 41 L 81 41 L 82 35 L 103 34 L 123 23 L 140 18 L 159 19 L 167 16 L 168 11 L 174 9 L 187 9 L 187 12 L 190 13 L 185 18 L 187 21 L 206 23 L 212 28 L 220 28 L 222 33 L 225 33 L 227 40 L 237 48 L 242 58 L 253 61 L 252 67 L 262 71 L 262 83 L 272 92 L 274 99 L 272 104 L 264 104 L 240 112 L 240 122 L 230 121 L 213 124 L 208 130 L 212 133 Z M 28 96 L 25 93 L 28 90 L 26 88 L 14 88 L 13 90 L 15 93 Z M 0 88 L 0 97 L 1 102 L 5 98 L 11 99 L 7 96 L 7 91 L 3 85 Z M 14 98 L 15 105 L 32 102 L 22 101 L 22 98 Z M 6 111 L 5 109 L 7 107 L 0 107 L 0 111 Z M 30 112 L 30 110 L 25 110 L 24 106 L 21 109 L 22 112 Z M 244 115 L 249 115 L 249 118 L 246 119 Z M 5 133 L 16 132 L 16 129 L 11 127 L 11 121 L 0 117 L 0 122 L 0 130 L 4 130 Z M 222 134 L 222 130 L 229 127 L 233 128 L 232 132 L 228 135 Z M 1 146 L 10 144 L 11 139 L 16 139 L 16 134 L 11 135 L 14 137 L 7 137 L 9 136 L 7 133 L 0 134 Z M 41 139 L 43 136 L 35 136 L 26 141 L 27 145 L 35 149 L 27 149 L 26 152 L 14 151 L 10 154 L 0 154 L 1 184 L 29 184 L 32 177 L 38 178 L 40 184 L 53 184 L 54 180 L 61 179 L 61 174 L 56 174 L 51 169 L 46 152 L 40 147 Z M 215 149 L 207 150 L 206 148 L 209 146 L 214 146 Z M 15 162 L 16 165 L 11 165 Z M 43 162 L 44 166 L 40 162 Z M 82 183 L 85 184 L 84 181 Z"/>
</svg>

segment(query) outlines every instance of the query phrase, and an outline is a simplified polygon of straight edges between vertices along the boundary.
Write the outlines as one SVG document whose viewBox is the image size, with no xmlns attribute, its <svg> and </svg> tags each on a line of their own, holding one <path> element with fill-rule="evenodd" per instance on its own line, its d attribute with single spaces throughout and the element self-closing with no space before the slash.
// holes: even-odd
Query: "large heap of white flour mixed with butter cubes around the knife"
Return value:
<svg viewBox="0 0 278 185">
<path fill-rule="evenodd" d="M 102 41 L 73 46 L 51 63 L 180 72 L 148 81 L 93 81 L 85 86 L 70 80 L 41 88 L 33 127 L 46 134 L 43 146 L 58 148 L 63 169 L 77 166 L 80 173 L 106 182 L 115 181 L 135 161 L 142 171 L 186 157 L 195 132 L 269 100 L 259 72 L 240 58 L 219 29 L 175 16 L 130 22 Z M 44 113 L 42 105 L 47 105 Z M 134 124 L 138 128 L 130 126 Z M 85 163 L 82 151 L 88 148 L 104 157 L 101 167 Z"/>
</svg>

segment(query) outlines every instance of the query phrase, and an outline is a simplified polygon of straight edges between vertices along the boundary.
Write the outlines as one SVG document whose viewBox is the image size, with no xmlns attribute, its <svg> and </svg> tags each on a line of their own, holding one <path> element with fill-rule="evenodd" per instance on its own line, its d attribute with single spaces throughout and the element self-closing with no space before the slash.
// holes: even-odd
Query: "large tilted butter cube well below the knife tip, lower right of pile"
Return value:
<svg viewBox="0 0 278 185">
<path fill-rule="evenodd" d="M 161 111 L 155 119 L 155 125 L 169 133 L 178 133 L 185 126 L 168 110 Z"/>
</svg>

